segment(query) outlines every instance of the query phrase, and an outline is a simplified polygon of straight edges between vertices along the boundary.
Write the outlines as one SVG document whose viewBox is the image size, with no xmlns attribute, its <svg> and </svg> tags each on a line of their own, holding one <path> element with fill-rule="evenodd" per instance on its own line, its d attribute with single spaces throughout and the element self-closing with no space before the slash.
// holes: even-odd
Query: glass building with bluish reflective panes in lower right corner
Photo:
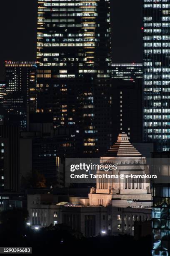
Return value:
<svg viewBox="0 0 170 256">
<path fill-rule="evenodd" d="M 170 170 L 170 152 L 153 153 L 153 164 L 164 183 L 153 184 L 153 256 L 170 255 L 170 184 L 166 176 Z M 166 171 L 165 171 L 166 170 Z M 161 180 L 161 179 L 160 179 Z"/>
</svg>

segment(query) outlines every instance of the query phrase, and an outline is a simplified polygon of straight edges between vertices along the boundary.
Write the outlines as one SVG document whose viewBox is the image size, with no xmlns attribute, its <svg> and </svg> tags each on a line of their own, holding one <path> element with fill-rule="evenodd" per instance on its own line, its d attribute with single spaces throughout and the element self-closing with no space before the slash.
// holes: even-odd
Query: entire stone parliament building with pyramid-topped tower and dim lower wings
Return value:
<svg viewBox="0 0 170 256">
<path fill-rule="evenodd" d="M 108 171 L 107 175 L 116 172 L 124 175 L 149 174 L 145 157 L 133 147 L 125 133 L 119 134 L 117 142 L 100 158 L 100 164 L 117 164 L 117 170 Z M 97 174 L 104 172 L 97 171 Z M 62 202 L 59 201 L 61 199 Z M 150 183 L 141 178 L 122 179 L 120 182 L 120 179 L 112 177 L 97 177 L 96 188 L 90 189 L 88 197 L 80 194 L 60 197 L 50 195 L 50 192 L 43 197 L 36 194 L 28 196 L 32 228 L 65 223 L 85 237 L 133 236 L 135 221 L 151 219 L 151 205 Z M 40 221 L 37 222 L 38 216 Z M 46 222 L 41 222 L 42 219 Z"/>
</svg>

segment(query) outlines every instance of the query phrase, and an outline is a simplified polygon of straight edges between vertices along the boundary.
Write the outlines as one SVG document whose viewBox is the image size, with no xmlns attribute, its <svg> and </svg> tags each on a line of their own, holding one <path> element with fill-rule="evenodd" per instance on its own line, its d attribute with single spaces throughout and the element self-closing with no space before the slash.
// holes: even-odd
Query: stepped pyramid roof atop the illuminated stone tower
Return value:
<svg viewBox="0 0 170 256">
<path fill-rule="evenodd" d="M 130 143 L 126 133 L 120 133 L 117 142 L 110 147 L 108 157 L 140 157 L 140 152 Z"/>
</svg>

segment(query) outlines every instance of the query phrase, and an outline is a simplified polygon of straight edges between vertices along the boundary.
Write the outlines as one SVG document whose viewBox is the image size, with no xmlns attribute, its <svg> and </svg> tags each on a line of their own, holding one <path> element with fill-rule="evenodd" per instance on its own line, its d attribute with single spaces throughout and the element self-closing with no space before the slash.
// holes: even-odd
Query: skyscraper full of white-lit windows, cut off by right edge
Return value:
<svg viewBox="0 0 170 256">
<path fill-rule="evenodd" d="M 170 150 L 170 0 L 143 1 L 144 140 Z"/>
</svg>

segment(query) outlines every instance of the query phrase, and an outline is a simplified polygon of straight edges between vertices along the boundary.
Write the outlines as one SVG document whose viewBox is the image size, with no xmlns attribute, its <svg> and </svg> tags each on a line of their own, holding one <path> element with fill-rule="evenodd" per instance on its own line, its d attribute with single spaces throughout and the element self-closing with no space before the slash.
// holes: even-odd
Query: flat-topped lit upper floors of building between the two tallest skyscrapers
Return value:
<svg viewBox="0 0 170 256">
<path fill-rule="evenodd" d="M 112 78 L 133 81 L 143 78 L 142 63 L 112 64 Z"/>
</svg>

